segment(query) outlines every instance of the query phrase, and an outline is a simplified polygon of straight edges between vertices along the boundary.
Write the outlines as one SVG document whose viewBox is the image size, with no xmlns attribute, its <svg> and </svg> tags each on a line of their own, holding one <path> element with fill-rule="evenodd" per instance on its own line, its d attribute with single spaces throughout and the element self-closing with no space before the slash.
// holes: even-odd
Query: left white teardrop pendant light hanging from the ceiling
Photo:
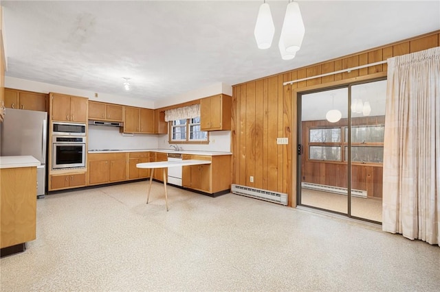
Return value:
<svg viewBox="0 0 440 292">
<path fill-rule="evenodd" d="M 254 36 L 256 45 L 259 49 L 268 49 L 272 45 L 272 39 L 275 34 L 274 21 L 270 13 L 269 4 L 263 3 L 259 9 L 259 15 L 256 17 Z"/>
</svg>

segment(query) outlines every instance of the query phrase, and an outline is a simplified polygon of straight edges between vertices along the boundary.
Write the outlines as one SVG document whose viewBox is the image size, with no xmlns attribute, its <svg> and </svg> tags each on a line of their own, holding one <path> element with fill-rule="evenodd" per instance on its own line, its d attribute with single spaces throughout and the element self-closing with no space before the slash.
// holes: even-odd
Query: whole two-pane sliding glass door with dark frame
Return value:
<svg viewBox="0 0 440 292">
<path fill-rule="evenodd" d="M 298 98 L 298 204 L 382 221 L 386 81 Z"/>
</svg>

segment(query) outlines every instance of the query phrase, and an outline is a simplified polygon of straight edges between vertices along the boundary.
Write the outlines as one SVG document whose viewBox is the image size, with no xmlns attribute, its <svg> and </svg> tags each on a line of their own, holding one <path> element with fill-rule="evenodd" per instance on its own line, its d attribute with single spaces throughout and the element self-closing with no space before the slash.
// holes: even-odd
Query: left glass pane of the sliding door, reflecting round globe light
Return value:
<svg viewBox="0 0 440 292">
<path fill-rule="evenodd" d="M 300 204 L 347 214 L 348 89 L 309 93 L 301 97 Z M 345 195 L 344 195 L 345 194 Z"/>
</svg>

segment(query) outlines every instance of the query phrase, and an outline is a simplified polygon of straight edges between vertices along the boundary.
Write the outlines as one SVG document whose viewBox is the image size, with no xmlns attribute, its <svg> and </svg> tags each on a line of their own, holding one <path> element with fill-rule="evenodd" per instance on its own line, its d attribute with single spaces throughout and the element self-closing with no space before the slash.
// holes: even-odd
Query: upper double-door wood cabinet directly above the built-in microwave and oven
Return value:
<svg viewBox="0 0 440 292">
<path fill-rule="evenodd" d="M 52 121 L 87 123 L 87 101 L 87 97 L 50 93 L 50 117 Z"/>
</svg>

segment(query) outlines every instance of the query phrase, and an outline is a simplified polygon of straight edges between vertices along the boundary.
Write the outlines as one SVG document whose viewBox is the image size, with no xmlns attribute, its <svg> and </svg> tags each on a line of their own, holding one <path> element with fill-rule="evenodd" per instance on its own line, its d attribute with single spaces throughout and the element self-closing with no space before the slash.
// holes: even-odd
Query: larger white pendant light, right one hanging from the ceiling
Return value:
<svg viewBox="0 0 440 292">
<path fill-rule="evenodd" d="M 283 28 L 281 29 L 281 38 L 285 45 L 285 50 L 289 53 L 299 51 L 305 34 L 303 17 L 301 16 L 298 3 L 291 2 L 287 4 L 284 17 Z"/>
</svg>

